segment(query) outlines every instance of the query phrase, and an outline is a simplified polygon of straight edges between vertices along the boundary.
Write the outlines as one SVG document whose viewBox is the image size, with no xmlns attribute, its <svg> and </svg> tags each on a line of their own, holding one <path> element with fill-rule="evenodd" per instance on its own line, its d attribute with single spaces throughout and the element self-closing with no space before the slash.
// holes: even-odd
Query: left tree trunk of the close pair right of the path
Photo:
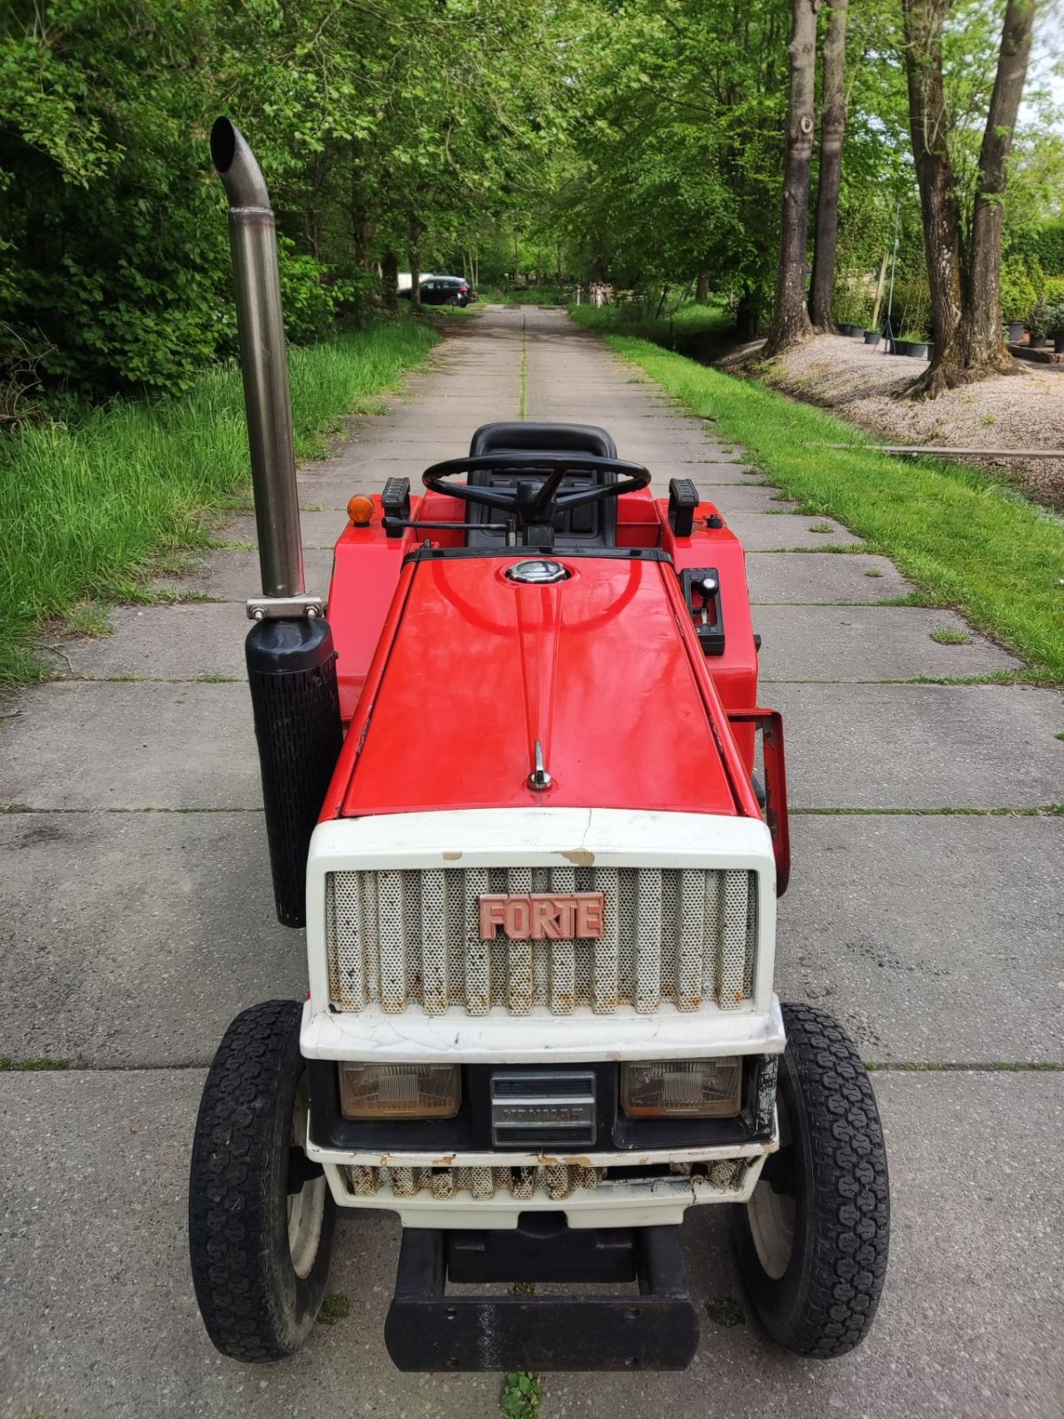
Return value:
<svg viewBox="0 0 1064 1419">
<path fill-rule="evenodd" d="M 820 0 L 790 0 L 790 104 L 787 155 L 783 163 L 783 217 L 780 221 L 776 305 L 772 312 L 766 356 L 796 345 L 813 332 L 806 309 L 806 251 L 809 247 L 809 180 L 813 167 L 816 98 L 817 10 Z"/>
</svg>

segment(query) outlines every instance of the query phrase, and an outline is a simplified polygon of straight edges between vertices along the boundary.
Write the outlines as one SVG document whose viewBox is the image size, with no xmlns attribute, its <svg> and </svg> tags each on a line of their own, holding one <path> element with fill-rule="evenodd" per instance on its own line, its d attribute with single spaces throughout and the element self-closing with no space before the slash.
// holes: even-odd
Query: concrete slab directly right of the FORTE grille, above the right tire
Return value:
<svg viewBox="0 0 1064 1419">
<path fill-rule="evenodd" d="M 1064 1059 L 1064 817 L 792 819 L 776 989 L 870 1060 Z"/>
</svg>

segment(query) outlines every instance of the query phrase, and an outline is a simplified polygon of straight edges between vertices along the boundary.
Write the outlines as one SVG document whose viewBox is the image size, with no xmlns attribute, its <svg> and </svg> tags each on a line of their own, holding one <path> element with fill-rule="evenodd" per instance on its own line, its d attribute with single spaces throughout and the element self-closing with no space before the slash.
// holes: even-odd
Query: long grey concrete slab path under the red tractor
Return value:
<svg viewBox="0 0 1064 1419">
<path fill-rule="evenodd" d="M 1064 819 L 1037 812 L 1064 797 L 1060 697 L 912 684 L 1016 661 L 975 633 L 933 641 L 959 617 L 897 606 L 911 587 L 890 562 L 844 529 L 811 532 L 742 450 L 535 308 L 461 326 L 386 414 L 301 473 L 311 587 L 326 589 L 350 492 L 416 478 L 522 413 L 606 424 L 661 491 L 695 478 L 750 548 L 762 698 L 786 712 L 799 809 L 779 983 L 878 1066 L 895 1208 L 857 1354 L 797 1361 L 752 1321 L 706 1315 L 685 1374 L 552 1375 L 543 1419 L 1060 1415 L 1064 1076 L 1029 1067 L 1064 1060 Z M 253 542 L 254 524 L 220 535 Z M 254 552 L 213 552 L 167 585 L 209 602 L 116 612 L 112 637 L 64 646 L 57 680 L 0 724 L 0 1054 L 71 1066 L 0 1074 L 0 1419 L 489 1419 L 498 1376 L 392 1368 L 384 1213 L 342 1230 L 332 1287 L 350 1315 L 291 1362 L 223 1361 L 199 1323 L 184 1209 L 203 1070 L 240 1009 L 302 993 L 305 958 L 272 920 L 238 683 Z M 699 1305 L 739 1297 L 726 1219 L 695 1209 L 687 1242 Z"/>
</svg>

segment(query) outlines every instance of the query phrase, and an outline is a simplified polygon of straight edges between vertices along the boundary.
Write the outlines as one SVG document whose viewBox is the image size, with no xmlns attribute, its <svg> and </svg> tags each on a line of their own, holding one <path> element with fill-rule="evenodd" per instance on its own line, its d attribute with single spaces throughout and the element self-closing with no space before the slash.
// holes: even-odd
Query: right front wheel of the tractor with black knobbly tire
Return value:
<svg viewBox="0 0 1064 1419">
<path fill-rule="evenodd" d="M 887 1152 L 871 1080 L 824 1010 L 785 1005 L 780 1151 L 735 1209 L 746 1291 L 772 1338 L 834 1358 L 875 1318 L 890 1250 Z"/>
</svg>

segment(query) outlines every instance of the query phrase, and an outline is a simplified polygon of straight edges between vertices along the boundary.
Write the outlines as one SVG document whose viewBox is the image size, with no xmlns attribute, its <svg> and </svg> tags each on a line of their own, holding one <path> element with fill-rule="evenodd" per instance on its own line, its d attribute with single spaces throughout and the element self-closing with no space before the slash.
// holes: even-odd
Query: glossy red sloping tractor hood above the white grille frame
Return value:
<svg viewBox="0 0 1064 1419">
<path fill-rule="evenodd" d="M 559 553 L 565 580 L 522 585 L 506 573 L 526 559 L 419 559 L 376 694 L 352 724 L 342 815 L 735 813 L 705 675 L 665 586 L 671 565 Z"/>
</svg>

